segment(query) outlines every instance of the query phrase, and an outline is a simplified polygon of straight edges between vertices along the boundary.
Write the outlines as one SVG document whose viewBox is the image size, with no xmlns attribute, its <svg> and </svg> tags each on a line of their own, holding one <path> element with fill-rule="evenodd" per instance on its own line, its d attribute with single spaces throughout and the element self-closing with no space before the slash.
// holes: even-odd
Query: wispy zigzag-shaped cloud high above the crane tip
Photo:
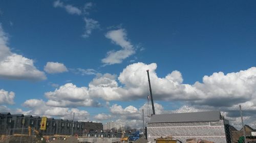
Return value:
<svg viewBox="0 0 256 143">
<path fill-rule="evenodd" d="M 105 65 L 122 63 L 124 59 L 135 53 L 134 46 L 127 40 L 127 34 L 124 29 L 109 31 L 105 37 L 122 47 L 121 50 L 112 50 L 107 53 L 106 58 L 101 60 Z"/>
</svg>

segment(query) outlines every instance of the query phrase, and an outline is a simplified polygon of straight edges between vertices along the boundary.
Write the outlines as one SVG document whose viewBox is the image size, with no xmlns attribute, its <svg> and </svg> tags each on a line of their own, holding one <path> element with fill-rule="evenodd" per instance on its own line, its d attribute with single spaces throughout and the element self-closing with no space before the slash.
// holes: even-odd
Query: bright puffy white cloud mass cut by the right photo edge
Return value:
<svg viewBox="0 0 256 143">
<path fill-rule="evenodd" d="M 256 67 L 224 74 L 213 73 L 203 77 L 203 83 L 196 82 L 199 100 L 195 104 L 231 106 L 247 101 L 256 105 Z"/>
</svg>

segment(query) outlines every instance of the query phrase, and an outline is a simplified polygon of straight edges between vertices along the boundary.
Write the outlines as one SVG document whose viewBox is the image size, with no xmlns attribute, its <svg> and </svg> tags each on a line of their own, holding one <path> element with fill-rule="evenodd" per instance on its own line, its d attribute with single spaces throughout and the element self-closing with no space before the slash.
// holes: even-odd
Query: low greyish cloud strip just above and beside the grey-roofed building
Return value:
<svg viewBox="0 0 256 143">
<path fill-rule="evenodd" d="M 142 109 L 144 109 L 144 123 L 151 120 L 152 107 L 145 103 L 139 108 L 135 106 L 122 107 L 118 104 L 113 104 L 109 107 L 110 112 L 99 113 L 94 116 L 94 119 L 101 122 L 111 122 L 114 121 L 117 125 L 130 126 L 132 128 L 141 128 L 142 126 Z M 244 123 L 255 128 L 255 106 L 248 106 L 248 104 L 242 105 Z M 188 106 L 183 105 L 177 109 L 166 110 L 161 104 L 155 103 L 156 114 L 166 114 L 166 113 L 184 113 L 184 112 L 200 112 L 200 111 L 212 111 L 219 110 L 221 115 L 227 119 L 230 125 L 241 129 L 241 117 L 238 105 L 233 105 L 231 107 L 212 107 L 212 106 Z"/>
</svg>

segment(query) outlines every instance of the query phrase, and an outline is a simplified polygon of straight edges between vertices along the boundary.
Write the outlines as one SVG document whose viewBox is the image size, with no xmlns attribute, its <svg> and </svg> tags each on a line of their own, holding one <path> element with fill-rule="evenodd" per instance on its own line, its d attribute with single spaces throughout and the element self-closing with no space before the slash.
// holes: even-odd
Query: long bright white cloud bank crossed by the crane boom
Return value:
<svg viewBox="0 0 256 143">
<path fill-rule="evenodd" d="M 146 69 L 150 70 L 152 91 L 155 100 L 183 101 L 192 105 L 232 106 L 235 104 L 256 104 L 256 67 L 241 70 L 236 73 L 213 73 L 204 76 L 203 82 L 184 84 L 179 71 L 173 71 L 165 77 L 156 74 L 157 64 L 135 63 L 127 66 L 118 77 L 112 74 L 98 74 L 89 87 L 78 88 L 76 92 L 60 88 L 54 92 L 46 93 L 52 100 L 80 101 L 81 98 L 88 102 L 101 98 L 105 101 L 119 100 L 131 101 L 146 99 L 148 95 L 148 81 Z M 118 79 L 118 80 L 117 80 Z M 119 85 L 120 84 L 120 85 Z M 63 87 L 75 87 L 72 83 Z M 79 91 L 80 91 L 79 90 Z M 61 94 L 59 92 L 61 91 Z M 61 96 L 60 96 L 61 95 Z M 58 104 L 55 104 L 58 105 Z M 64 104 L 63 104 L 64 105 Z"/>
</svg>

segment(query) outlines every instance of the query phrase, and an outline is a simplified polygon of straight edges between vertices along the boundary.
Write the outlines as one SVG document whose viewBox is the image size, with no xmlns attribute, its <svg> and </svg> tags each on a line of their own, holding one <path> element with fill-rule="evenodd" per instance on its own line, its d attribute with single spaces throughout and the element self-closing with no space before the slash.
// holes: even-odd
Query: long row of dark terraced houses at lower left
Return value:
<svg viewBox="0 0 256 143">
<path fill-rule="evenodd" d="M 24 125 L 23 120 L 25 119 Z M 23 127 L 24 126 L 24 127 Z M 21 128 L 28 129 L 31 127 L 33 130 L 41 132 L 43 135 L 71 135 L 72 126 L 73 134 L 82 136 L 90 131 L 103 130 L 102 123 L 93 122 L 78 122 L 63 119 L 48 118 L 46 123 L 46 130 L 41 131 L 41 117 L 39 116 L 24 116 L 24 115 L 11 115 L 9 112 L 0 113 L 0 134 L 14 134 L 19 133 Z"/>
</svg>

